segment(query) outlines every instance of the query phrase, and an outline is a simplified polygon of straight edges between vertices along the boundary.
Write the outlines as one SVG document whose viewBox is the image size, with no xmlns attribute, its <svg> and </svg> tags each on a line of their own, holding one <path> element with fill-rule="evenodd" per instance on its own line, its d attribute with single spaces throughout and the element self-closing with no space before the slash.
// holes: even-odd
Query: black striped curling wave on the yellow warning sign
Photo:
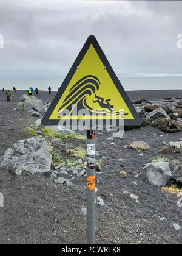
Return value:
<svg viewBox="0 0 182 256">
<path fill-rule="evenodd" d="M 93 93 L 96 93 L 96 91 L 99 90 L 100 84 L 101 82 L 98 77 L 92 75 L 84 76 L 82 79 L 78 80 L 78 82 L 76 82 L 70 89 L 69 95 L 59 108 L 59 115 L 61 114 L 61 110 L 63 111 L 64 109 L 67 109 L 72 113 L 73 105 L 81 104 L 79 107 L 84 108 L 84 100 Z"/>
</svg>

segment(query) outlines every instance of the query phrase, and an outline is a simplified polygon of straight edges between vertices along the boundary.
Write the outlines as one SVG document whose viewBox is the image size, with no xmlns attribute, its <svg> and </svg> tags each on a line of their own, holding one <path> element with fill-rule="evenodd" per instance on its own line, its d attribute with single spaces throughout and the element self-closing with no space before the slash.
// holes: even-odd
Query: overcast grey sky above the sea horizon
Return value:
<svg viewBox="0 0 182 256">
<path fill-rule="evenodd" d="M 182 74 L 181 1 L 1 0 L 0 77 L 64 77 L 90 34 L 122 74 Z"/>
</svg>

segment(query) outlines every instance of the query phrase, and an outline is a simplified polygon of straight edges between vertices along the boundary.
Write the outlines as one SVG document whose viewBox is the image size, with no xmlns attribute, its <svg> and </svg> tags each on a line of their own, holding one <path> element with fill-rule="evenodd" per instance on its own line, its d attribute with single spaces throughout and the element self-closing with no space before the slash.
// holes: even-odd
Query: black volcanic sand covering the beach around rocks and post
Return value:
<svg viewBox="0 0 182 256">
<path fill-rule="evenodd" d="M 52 101 L 56 92 L 49 96 L 40 92 L 38 98 Z M 31 137 L 23 131 L 31 127 L 33 118 L 29 113 L 13 110 L 17 107 L 22 91 L 15 93 L 11 103 L 5 102 L 0 92 L 0 157 L 4 151 L 18 140 Z M 182 91 L 137 91 L 128 93 L 131 99 L 163 99 L 181 96 Z M 13 122 L 12 122 L 13 121 Z M 163 141 L 178 141 L 182 133 L 166 134 L 148 126 L 124 133 L 124 140 L 112 141 L 106 138 L 112 133 L 98 132 L 96 146 L 101 156 L 104 184 L 98 185 L 105 207 L 96 207 L 97 243 L 182 243 L 182 232 L 172 224 L 182 226 L 182 207 L 177 206 L 177 194 L 168 194 L 161 188 L 142 182 L 136 178 L 141 169 L 157 156 Z M 140 152 L 123 149 L 125 144 L 136 140 L 146 141 L 150 150 Z M 62 148 L 86 146 L 84 141 L 62 141 Z M 61 146 L 61 145 L 60 145 Z M 181 154 L 169 155 L 182 163 Z M 119 162 L 118 159 L 123 159 Z M 121 179 L 121 170 L 127 172 L 127 179 Z M 24 172 L 13 177 L 7 170 L 0 169 L 0 192 L 4 193 L 4 207 L 0 208 L 0 243 L 85 243 L 86 218 L 81 208 L 86 207 L 86 178 L 72 182 L 75 188 L 58 185 L 54 187 L 49 177 L 30 175 Z M 137 182 L 136 186 L 133 182 Z M 123 193 L 127 191 L 128 193 Z M 130 198 L 138 196 L 138 202 Z M 53 210 L 52 207 L 56 207 Z M 165 217 L 163 221 L 160 218 Z"/>
</svg>

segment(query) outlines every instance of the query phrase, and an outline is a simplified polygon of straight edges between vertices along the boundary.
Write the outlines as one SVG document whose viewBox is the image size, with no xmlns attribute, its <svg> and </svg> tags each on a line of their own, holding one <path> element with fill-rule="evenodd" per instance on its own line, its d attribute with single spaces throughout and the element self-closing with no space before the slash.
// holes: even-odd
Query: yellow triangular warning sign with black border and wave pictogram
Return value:
<svg viewBox="0 0 182 256">
<path fill-rule="evenodd" d="M 93 35 L 79 52 L 42 124 L 58 125 L 60 120 L 79 121 L 83 119 L 83 113 L 84 120 L 124 119 L 126 126 L 142 123 Z"/>
</svg>

